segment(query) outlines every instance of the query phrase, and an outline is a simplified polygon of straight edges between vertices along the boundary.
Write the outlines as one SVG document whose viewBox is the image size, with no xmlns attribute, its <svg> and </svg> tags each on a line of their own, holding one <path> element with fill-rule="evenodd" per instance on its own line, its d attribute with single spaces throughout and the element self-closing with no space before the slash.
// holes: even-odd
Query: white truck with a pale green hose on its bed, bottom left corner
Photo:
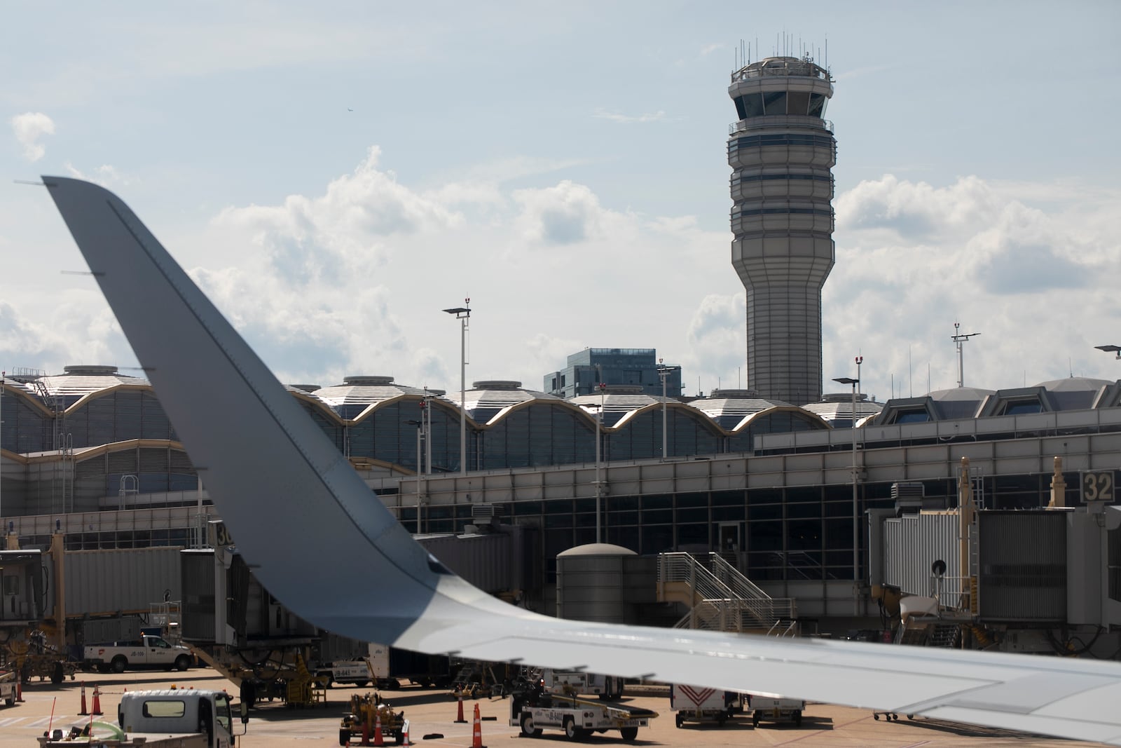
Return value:
<svg viewBox="0 0 1121 748">
<path fill-rule="evenodd" d="M 225 691 L 166 689 L 127 691 L 117 710 L 118 724 L 81 722 L 38 738 L 41 748 L 145 746 L 146 748 L 234 748 L 233 711 Z M 241 722 L 249 718 L 244 710 Z M 100 735 L 100 733 L 108 733 Z"/>
</svg>

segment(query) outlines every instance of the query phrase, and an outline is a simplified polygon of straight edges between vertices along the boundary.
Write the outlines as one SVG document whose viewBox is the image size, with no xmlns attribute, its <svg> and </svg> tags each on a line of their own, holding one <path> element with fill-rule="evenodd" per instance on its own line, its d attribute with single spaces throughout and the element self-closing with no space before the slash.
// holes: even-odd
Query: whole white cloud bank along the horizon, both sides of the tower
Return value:
<svg viewBox="0 0 1121 748">
<path fill-rule="evenodd" d="M 571 179 L 509 190 L 463 175 L 425 191 L 381 168 L 379 153 L 316 190 L 224 209 L 192 238 L 198 247 L 165 236 L 281 380 L 385 375 L 457 391 L 461 327 L 443 310 L 471 297 L 469 385 L 537 389 L 568 354 L 620 347 L 656 348 L 684 368 L 689 393 L 730 387 L 740 370 L 747 386 L 743 288 L 725 227 L 615 209 Z M 928 371 L 932 387 L 953 387 L 955 321 L 983 333 L 966 347 L 970 385 L 1105 367 L 1093 347 L 1115 342 L 1121 316 L 1121 216 L 1108 190 L 884 175 L 835 205 L 826 382 L 854 376 L 860 353 L 863 389 L 880 399 L 926 391 Z M 46 284 L 6 297 L 0 355 L 58 370 L 132 366 L 92 281 L 64 278 L 50 281 L 64 284 L 61 298 Z"/>
</svg>

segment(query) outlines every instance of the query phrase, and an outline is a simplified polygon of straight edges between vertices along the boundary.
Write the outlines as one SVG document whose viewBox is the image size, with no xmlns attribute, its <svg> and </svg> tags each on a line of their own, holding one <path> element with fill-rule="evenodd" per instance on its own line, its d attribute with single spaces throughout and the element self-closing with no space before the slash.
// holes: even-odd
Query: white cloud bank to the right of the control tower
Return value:
<svg viewBox="0 0 1121 748">
<path fill-rule="evenodd" d="M 965 384 L 999 389 L 1100 369 L 1094 344 L 1121 312 L 1109 190 L 892 175 L 837 196 L 836 265 L 823 289 L 824 379 L 854 376 L 880 399 Z M 1101 340 L 1099 340 L 1101 339 Z M 826 387 L 828 390 L 828 387 Z"/>
</svg>

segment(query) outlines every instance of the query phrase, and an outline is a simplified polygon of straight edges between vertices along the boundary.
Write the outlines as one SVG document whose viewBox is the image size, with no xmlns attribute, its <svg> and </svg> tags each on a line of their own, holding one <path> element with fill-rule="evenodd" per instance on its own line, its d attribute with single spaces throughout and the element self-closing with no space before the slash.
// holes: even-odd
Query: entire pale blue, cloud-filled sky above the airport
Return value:
<svg viewBox="0 0 1121 748">
<path fill-rule="evenodd" d="M 4 1 L 0 368 L 139 373 L 39 175 L 114 191 L 286 384 L 654 348 L 748 387 L 730 74 L 827 65 L 825 391 L 1121 361 L 1121 3 Z M 742 43 L 742 46 L 741 46 Z M 955 327 L 955 323 L 960 327 Z"/>
</svg>

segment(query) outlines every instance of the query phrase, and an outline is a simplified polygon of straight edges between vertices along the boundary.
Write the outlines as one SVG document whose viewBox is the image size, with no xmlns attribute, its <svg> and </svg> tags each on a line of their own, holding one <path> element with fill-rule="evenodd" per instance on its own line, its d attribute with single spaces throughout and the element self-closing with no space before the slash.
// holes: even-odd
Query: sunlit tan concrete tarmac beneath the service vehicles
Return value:
<svg viewBox="0 0 1121 748">
<path fill-rule="evenodd" d="M 121 674 L 78 673 L 76 680 L 59 685 L 35 681 L 24 689 L 24 702 L 13 707 L 0 705 L 0 748 L 33 748 L 35 738 L 48 728 L 68 730 L 72 724 L 84 724 L 91 715 L 82 715 L 81 684 L 85 683 L 86 711 L 93 710 L 93 686 L 100 691 L 103 714 L 93 719 L 115 722 L 117 705 L 124 690 L 219 689 L 229 691 L 237 701 L 238 689 L 210 668 L 193 668 L 184 673 L 166 671 L 138 671 Z M 249 712 L 245 735 L 239 737 L 240 748 L 307 748 L 308 746 L 337 746 L 340 719 L 354 693 L 369 689 L 333 686 L 327 690 L 327 702 L 308 708 L 288 709 L 277 702 L 263 702 Z M 527 748 L 540 745 L 546 748 L 567 742 L 559 731 L 545 731 L 540 738 L 527 738 L 517 727 L 510 727 L 507 699 L 464 700 L 465 724 L 455 723 L 456 702 L 447 691 L 406 686 L 397 691 L 382 691 L 382 700 L 395 710 L 404 710 L 410 723 L 411 741 L 432 748 L 471 748 L 472 713 L 478 703 L 483 715 L 482 744 L 487 748 Z M 593 735 L 585 745 L 591 746 L 796 746 L 837 748 L 870 746 L 882 748 L 939 748 L 942 746 L 1018 746 L 1019 748 L 1099 746 L 1102 744 L 1059 740 L 1008 730 L 976 728 L 967 724 L 916 718 L 908 720 L 873 719 L 869 711 L 808 703 L 802 726 L 761 722 L 752 727 L 750 717 L 738 714 L 723 727 L 686 723 L 675 727 L 674 712 L 665 687 L 629 687 L 624 702 L 654 709 L 660 717 L 650 728 L 640 728 L 638 739 L 626 742 L 619 732 Z M 489 718 L 489 719 L 488 719 Z M 237 722 L 235 731 L 242 726 Z M 386 741 L 393 745 L 392 739 Z M 355 741 L 352 745 L 358 745 Z"/>
</svg>

